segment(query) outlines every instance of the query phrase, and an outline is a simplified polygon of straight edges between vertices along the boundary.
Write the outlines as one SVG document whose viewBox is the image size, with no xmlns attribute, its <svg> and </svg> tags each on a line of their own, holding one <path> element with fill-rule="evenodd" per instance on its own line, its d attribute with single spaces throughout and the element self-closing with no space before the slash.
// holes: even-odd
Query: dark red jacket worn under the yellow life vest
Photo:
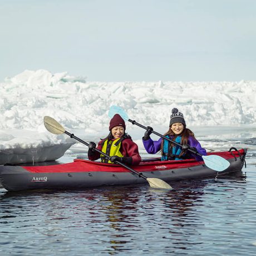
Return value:
<svg viewBox="0 0 256 256">
<path fill-rule="evenodd" d="M 96 149 L 102 150 L 102 145 L 103 145 L 103 140 L 99 142 Z M 124 156 L 132 157 L 132 165 L 138 165 L 141 161 L 138 146 L 131 139 L 124 139 L 121 142 L 120 152 Z M 88 156 L 88 159 L 92 161 L 97 160 L 99 158 L 100 158 L 100 153 L 96 151 L 94 151 L 94 154 L 92 156 Z"/>
</svg>

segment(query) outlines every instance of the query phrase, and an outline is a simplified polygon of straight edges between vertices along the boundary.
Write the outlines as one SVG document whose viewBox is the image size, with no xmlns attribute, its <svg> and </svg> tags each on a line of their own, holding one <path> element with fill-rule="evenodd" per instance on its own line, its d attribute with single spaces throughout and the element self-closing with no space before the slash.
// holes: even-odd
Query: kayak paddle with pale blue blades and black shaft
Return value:
<svg viewBox="0 0 256 256">
<path fill-rule="evenodd" d="M 133 125 L 137 125 L 137 126 L 143 128 L 143 129 L 147 130 L 146 126 L 137 123 L 135 120 L 129 119 L 128 115 L 126 114 L 126 112 L 121 107 L 119 107 L 119 106 L 111 106 L 110 107 L 109 117 L 112 118 L 115 114 L 119 114 L 122 117 L 122 119 L 131 122 Z M 156 132 L 154 130 L 152 130 L 152 134 L 155 134 L 159 137 L 162 137 L 163 139 L 168 140 L 168 141 L 172 142 L 173 144 L 178 145 L 180 147 L 183 146 L 183 145 L 179 144 L 178 142 L 176 142 L 174 140 L 171 140 L 168 137 L 166 137 L 164 135 L 161 135 L 161 134 L 159 134 L 158 132 Z M 196 152 L 194 149 L 191 149 L 191 147 L 188 147 L 187 150 L 189 150 L 190 152 L 192 152 L 196 155 L 199 155 L 199 156 L 203 157 L 205 165 L 208 168 L 212 169 L 212 170 L 224 171 L 230 165 L 229 161 L 224 159 L 221 156 L 218 156 L 218 155 L 204 156 L 204 155 L 201 155 L 199 152 Z"/>
</svg>

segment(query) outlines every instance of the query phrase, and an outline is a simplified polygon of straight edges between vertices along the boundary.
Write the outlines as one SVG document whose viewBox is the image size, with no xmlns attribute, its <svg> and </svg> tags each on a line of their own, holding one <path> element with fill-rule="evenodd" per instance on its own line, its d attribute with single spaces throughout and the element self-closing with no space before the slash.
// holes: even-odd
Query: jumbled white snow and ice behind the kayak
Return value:
<svg viewBox="0 0 256 256">
<path fill-rule="evenodd" d="M 183 112 L 188 127 L 254 126 L 255 85 L 256 81 L 86 82 L 66 72 L 26 70 L 0 83 L 0 164 L 57 159 L 75 143 L 67 135 L 46 131 L 46 115 L 67 131 L 79 131 L 82 139 L 107 135 L 111 105 L 122 107 L 130 119 L 145 126 L 167 129 L 173 107 Z"/>
</svg>

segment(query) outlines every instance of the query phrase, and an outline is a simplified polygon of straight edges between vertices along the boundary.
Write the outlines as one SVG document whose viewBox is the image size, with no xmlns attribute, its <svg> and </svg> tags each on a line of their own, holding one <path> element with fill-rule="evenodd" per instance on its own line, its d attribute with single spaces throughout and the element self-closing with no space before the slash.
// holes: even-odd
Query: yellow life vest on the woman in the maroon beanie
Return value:
<svg viewBox="0 0 256 256">
<path fill-rule="evenodd" d="M 123 157 L 122 153 L 120 152 L 121 142 L 124 140 L 124 137 L 118 138 L 116 140 L 105 140 L 102 146 L 102 152 L 109 156 L 120 156 Z M 113 164 L 106 156 L 101 156 L 101 163 L 109 163 Z"/>
</svg>

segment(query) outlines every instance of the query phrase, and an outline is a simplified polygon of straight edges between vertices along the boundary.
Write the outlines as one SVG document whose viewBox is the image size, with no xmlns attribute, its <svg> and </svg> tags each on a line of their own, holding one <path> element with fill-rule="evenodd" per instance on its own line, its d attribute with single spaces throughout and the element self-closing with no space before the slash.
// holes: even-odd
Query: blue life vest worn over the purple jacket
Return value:
<svg viewBox="0 0 256 256">
<path fill-rule="evenodd" d="M 168 137 L 170 139 L 169 135 L 167 135 L 166 137 Z M 180 144 L 181 136 L 176 137 L 175 141 Z M 162 155 L 161 160 L 162 161 L 164 161 L 164 160 L 183 160 L 184 158 L 179 157 L 180 153 L 182 152 L 181 147 L 177 146 L 177 145 L 173 145 L 172 152 L 170 152 L 170 144 L 171 144 L 170 141 L 164 139 L 163 155 Z"/>
</svg>

